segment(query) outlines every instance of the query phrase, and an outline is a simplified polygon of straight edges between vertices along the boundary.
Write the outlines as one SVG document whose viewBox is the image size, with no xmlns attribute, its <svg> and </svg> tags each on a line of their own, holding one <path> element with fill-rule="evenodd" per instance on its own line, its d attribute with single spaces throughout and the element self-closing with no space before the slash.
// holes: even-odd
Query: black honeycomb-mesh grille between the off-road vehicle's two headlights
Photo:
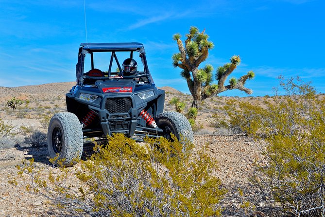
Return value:
<svg viewBox="0 0 325 217">
<path fill-rule="evenodd" d="M 105 101 L 105 109 L 110 113 L 127 113 L 132 107 L 130 97 L 107 98 Z"/>
</svg>

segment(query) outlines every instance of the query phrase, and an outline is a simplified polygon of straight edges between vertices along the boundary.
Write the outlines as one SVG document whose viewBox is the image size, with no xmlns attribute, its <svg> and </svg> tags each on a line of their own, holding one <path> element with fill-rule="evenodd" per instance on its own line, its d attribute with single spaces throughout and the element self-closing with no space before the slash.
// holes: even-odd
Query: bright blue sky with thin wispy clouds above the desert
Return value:
<svg viewBox="0 0 325 217">
<path fill-rule="evenodd" d="M 184 39 L 196 26 L 215 44 L 205 63 L 216 69 L 239 54 L 231 76 L 256 73 L 246 84 L 253 96 L 272 95 L 278 75 L 299 75 L 325 92 L 324 0 L 85 2 L 87 41 L 143 43 L 159 87 L 188 92 L 171 64 L 178 52 L 172 35 Z M 84 0 L 0 0 L 0 86 L 74 81 L 78 48 L 86 42 L 84 16 Z"/>
</svg>

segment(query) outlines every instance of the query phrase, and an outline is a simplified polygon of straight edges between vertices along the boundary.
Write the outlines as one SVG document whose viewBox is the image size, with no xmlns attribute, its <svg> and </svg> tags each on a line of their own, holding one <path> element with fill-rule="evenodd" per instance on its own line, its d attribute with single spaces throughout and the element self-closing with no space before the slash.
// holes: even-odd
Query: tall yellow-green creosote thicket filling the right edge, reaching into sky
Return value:
<svg viewBox="0 0 325 217">
<path fill-rule="evenodd" d="M 228 103 L 229 122 L 267 142 L 252 181 L 282 205 L 284 214 L 324 216 L 325 100 L 299 77 L 280 77 L 280 87 L 286 95 L 265 100 L 263 108 Z"/>
</svg>

